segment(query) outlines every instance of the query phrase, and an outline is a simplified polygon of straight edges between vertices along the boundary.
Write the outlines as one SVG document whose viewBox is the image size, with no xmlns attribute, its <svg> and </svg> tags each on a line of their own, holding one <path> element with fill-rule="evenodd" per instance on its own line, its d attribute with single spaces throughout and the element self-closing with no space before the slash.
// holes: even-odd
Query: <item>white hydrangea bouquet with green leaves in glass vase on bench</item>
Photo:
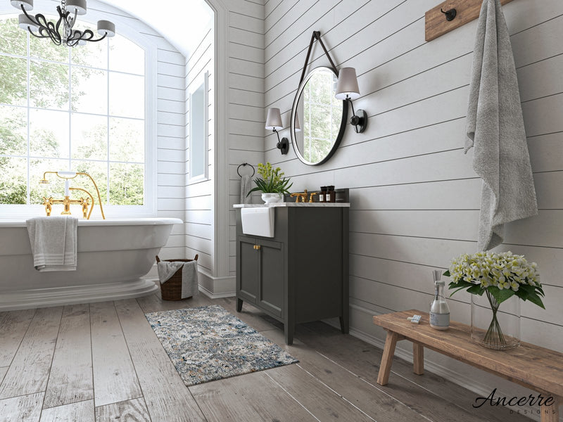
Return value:
<svg viewBox="0 0 563 422">
<path fill-rule="evenodd" d="M 448 287 L 455 289 L 452 295 L 459 290 L 472 294 L 472 340 L 483 347 L 509 350 L 520 345 L 520 300 L 545 309 L 538 266 L 524 255 L 462 254 L 444 275 L 450 277 Z"/>
</svg>

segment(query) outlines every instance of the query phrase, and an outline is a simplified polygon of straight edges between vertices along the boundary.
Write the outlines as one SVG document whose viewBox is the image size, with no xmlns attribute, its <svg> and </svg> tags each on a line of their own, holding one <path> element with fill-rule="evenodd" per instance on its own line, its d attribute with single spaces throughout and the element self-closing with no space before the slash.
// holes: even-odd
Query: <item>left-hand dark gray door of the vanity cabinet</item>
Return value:
<svg viewBox="0 0 563 422">
<path fill-rule="evenodd" d="M 238 295 L 251 303 L 256 303 L 258 294 L 258 257 L 260 251 L 255 248 L 255 238 L 239 236 L 239 271 Z"/>
</svg>

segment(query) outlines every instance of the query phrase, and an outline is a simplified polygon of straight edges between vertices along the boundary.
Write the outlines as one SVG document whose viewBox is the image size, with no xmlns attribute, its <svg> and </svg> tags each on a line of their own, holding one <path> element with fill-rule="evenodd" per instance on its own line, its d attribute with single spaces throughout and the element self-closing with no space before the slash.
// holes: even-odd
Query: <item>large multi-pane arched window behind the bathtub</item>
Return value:
<svg viewBox="0 0 563 422">
<path fill-rule="evenodd" d="M 145 56 L 119 34 L 56 46 L 0 15 L 0 206 L 63 198 L 62 179 L 39 184 L 59 170 L 90 174 L 103 205 L 146 205 Z"/>
</svg>

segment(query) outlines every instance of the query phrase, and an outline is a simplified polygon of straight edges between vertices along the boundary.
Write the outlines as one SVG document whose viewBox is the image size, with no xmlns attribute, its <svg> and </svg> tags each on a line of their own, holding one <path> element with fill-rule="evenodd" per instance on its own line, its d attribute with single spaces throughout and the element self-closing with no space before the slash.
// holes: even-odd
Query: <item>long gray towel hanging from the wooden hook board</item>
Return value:
<svg viewBox="0 0 563 422">
<path fill-rule="evenodd" d="M 504 224 L 538 214 L 510 36 L 500 0 L 484 0 L 475 40 L 465 152 L 483 179 L 479 250 L 503 240 Z"/>
</svg>

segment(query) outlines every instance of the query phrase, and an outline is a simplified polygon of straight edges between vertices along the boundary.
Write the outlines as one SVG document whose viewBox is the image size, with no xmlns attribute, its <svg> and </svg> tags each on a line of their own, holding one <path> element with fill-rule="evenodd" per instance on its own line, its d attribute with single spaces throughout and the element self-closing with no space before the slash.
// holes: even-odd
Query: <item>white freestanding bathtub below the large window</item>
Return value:
<svg viewBox="0 0 563 422">
<path fill-rule="evenodd" d="M 78 220 L 77 270 L 33 267 L 25 221 L 0 220 L 0 311 L 137 298 L 177 218 Z M 53 239 L 53 242 L 56 241 Z"/>
</svg>

